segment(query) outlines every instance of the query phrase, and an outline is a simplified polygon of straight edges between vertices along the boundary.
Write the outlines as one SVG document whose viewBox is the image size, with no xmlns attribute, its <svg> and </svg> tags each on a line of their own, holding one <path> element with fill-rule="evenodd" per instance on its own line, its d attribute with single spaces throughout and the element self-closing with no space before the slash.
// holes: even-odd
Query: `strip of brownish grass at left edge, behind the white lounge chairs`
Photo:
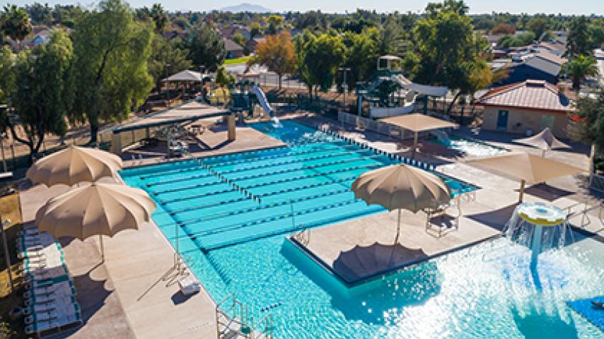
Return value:
<svg viewBox="0 0 604 339">
<path fill-rule="evenodd" d="M 4 187 L 0 188 L 4 189 Z M 16 270 L 21 263 L 21 261 L 17 259 L 15 249 L 17 232 L 21 230 L 21 211 L 19 210 L 18 194 L 11 194 L 10 196 L 0 198 L 0 215 L 2 216 L 2 221 L 6 219 L 11 220 L 11 225 L 8 225 L 8 227 L 4 229 L 4 232 L 6 232 L 6 242 L 8 243 L 8 251 L 11 255 L 11 269 L 13 270 L 13 282 L 15 283 L 15 292 L 11 294 L 3 247 L 0 250 L 0 315 L 2 316 L 2 323 L 0 323 L 0 339 L 28 338 L 28 335 L 25 335 L 22 318 L 17 319 L 16 321 L 8 319 L 8 312 L 11 311 L 11 309 L 23 305 L 23 298 L 21 297 L 23 295 L 23 286 L 16 274 Z M 1 239 L 0 246 L 4 246 L 4 244 L 1 243 Z"/>
</svg>

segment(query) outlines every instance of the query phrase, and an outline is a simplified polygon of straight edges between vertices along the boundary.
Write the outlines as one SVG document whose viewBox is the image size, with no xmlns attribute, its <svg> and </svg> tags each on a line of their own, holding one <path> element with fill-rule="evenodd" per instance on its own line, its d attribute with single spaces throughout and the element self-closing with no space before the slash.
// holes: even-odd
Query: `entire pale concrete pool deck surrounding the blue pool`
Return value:
<svg viewBox="0 0 604 339">
<path fill-rule="evenodd" d="M 309 123 L 311 126 L 316 126 L 320 121 L 337 126 L 335 121 L 311 115 L 298 115 L 298 119 L 301 122 L 304 122 L 304 119 L 307 122 L 312 121 Z M 200 150 L 199 155 L 279 147 L 279 142 L 274 143 L 274 139 L 260 138 L 264 134 L 254 133 L 255 130 L 247 133 L 243 129 L 238 127 L 238 141 L 233 143 L 223 143 L 226 135 L 219 133 L 226 132 L 216 131 L 214 135 L 208 133 L 206 137 L 214 138 L 214 147 L 211 150 Z M 349 133 L 348 136 L 370 143 L 375 148 L 395 153 L 406 151 L 400 149 L 397 141 L 385 136 L 354 130 L 343 133 Z M 207 141 L 210 142 L 210 139 Z M 223 144 L 220 145 L 221 143 Z M 506 143 L 501 145 L 506 147 Z M 551 156 L 574 164 L 586 164 L 586 157 L 582 153 L 554 151 Z M 413 215 L 403 211 L 400 244 L 404 247 L 403 250 L 395 251 L 395 263 L 390 264 L 392 267 L 386 265 L 386 269 L 393 269 L 397 265 L 405 265 L 417 259 L 438 256 L 451 249 L 496 236 L 516 206 L 518 182 L 470 167 L 454 158 L 434 156 L 428 152 L 420 152 L 419 157 L 431 163 L 441 163 L 439 170 L 445 174 L 477 184 L 481 189 L 477 191 L 476 201 L 462 203 L 463 217 L 460 219 L 459 230 L 447 230 L 442 237 L 426 233 L 425 216 L 422 212 Z M 149 159 L 144 160 L 143 164 L 158 162 L 153 160 L 151 155 Z M 597 201 L 581 191 L 581 180 L 581 177 L 569 177 L 548 182 L 545 187 L 529 187 L 525 201 L 542 201 L 559 207 L 576 204 L 584 198 L 591 198 L 591 203 Z M 37 208 L 42 203 L 67 189 L 66 186 L 54 186 L 50 189 L 45 186 L 30 187 L 26 183 L 21 187 L 24 222 L 32 222 Z M 592 210 L 589 215 L 591 222 L 585 229 L 599 234 L 604 239 L 604 226 L 598 218 L 598 210 Z M 571 221 L 579 225 L 581 220 Z M 395 227 L 395 213 L 368 215 L 365 218 L 311 230 L 308 246 L 316 252 L 318 258 L 333 265 L 340 253 L 358 244 L 393 244 Z M 74 275 L 85 321 L 80 328 L 52 338 L 216 337 L 214 301 L 203 289 L 188 299 L 180 297 L 174 273 L 170 272 L 173 267 L 173 248 L 153 222 L 142 225 L 139 230 L 120 232 L 112 239 L 105 237 L 106 260 L 102 264 L 99 264 L 98 237 L 91 237 L 83 242 L 77 239 L 62 239 L 62 243 L 66 263 Z M 359 276 L 371 276 L 369 273 L 371 270 L 358 270 Z"/>
</svg>

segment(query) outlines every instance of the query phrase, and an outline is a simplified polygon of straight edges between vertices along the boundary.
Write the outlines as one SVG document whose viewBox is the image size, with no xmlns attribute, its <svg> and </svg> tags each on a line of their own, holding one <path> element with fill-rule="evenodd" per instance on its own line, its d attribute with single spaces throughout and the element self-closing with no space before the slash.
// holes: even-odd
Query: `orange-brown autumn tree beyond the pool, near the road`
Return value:
<svg viewBox="0 0 604 339">
<path fill-rule="evenodd" d="M 267 66 L 269 71 L 277 73 L 279 90 L 284 74 L 296 71 L 296 53 L 289 32 L 279 35 L 269 35 L 265 41 L 256 46 L 256 54 L 248 61 L 248 65 L 260 64 Z"/>
</svg>

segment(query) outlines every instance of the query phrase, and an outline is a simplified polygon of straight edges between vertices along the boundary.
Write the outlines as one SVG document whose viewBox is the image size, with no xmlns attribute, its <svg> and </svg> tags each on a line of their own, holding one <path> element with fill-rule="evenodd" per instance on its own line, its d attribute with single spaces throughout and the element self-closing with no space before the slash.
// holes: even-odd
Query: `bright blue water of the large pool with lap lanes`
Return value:
<svg viewBox="0 0 604 339">
<path fill-rule="evenodd" d="M 604 245 L 592 239 L 542 254 L 538 275 L 526 273 L 528 250 L 499 239 L 344 287 L 284 235 L 383 211 L 349 186 L 393 160 L 283 124 L 254 127 L 286 148 L 121 173 L 158 203 L 153 220 L 172 244 L 178 227 L 182 256 L 216 301 L 233 294 L 257 318 L 278 305 L 276 338 L 602 338 L 566 304 L 604 295 Z"/>
</svg>

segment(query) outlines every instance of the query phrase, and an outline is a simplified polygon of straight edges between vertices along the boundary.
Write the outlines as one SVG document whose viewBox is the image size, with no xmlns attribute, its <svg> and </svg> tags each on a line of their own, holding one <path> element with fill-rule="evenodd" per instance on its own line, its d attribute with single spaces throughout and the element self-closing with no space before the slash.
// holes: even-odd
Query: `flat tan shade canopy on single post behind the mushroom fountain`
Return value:
<svg viewBox="0 0 604 339">
<path fill-rule="evenodd" d="M 535 184 L 583 172 L 583 169 L 579 167 L 523 152 L 509 152 L 493 157 L 483 157 L 470 160 L 467 163 L 520 180 L 519 203 L 523 200 L 524 186 L 527 182 Z"/>
</svg>

